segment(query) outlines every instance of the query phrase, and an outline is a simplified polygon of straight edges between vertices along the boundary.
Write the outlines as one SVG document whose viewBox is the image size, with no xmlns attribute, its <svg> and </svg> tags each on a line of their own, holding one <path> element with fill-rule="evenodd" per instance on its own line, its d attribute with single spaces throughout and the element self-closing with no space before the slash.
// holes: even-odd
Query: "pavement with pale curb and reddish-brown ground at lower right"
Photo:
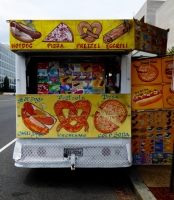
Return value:
<svg viewBox="0 0 174 200">
<path fill-rule="evenodd" d="M 133 165 L 127 173 L 136 200 L 174 200 L 172 165 Z"/>
</svg>

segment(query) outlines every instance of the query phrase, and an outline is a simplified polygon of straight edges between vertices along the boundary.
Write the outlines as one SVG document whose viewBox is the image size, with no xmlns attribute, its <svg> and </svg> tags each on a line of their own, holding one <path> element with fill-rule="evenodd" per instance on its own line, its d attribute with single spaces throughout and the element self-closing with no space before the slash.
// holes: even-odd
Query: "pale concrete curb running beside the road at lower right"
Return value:
<svg viewBox="0 0 174 200">
<path fill-rule="evenodd" d="M 137 200 L 157 200 L 134 169 L 127 168 L 127 173 Z"/>
</svg>

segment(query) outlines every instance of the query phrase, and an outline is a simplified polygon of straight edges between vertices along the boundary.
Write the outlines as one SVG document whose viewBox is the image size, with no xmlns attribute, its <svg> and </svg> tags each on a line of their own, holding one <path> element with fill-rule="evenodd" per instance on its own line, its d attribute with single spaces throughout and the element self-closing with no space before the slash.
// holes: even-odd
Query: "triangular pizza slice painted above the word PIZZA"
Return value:
<svg viewBox="0 0 174 200">
<path fill-rule="evenodd" d="M 43 40 L 43 42 L 74 42 L 71 29 L 61 22 Z"/>
</svg>

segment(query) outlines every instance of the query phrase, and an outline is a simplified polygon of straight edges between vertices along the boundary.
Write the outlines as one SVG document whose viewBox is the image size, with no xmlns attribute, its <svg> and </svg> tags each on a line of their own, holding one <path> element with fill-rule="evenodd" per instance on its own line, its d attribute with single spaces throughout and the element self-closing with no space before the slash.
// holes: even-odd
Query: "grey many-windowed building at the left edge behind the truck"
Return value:
<svg viewBox="0 0 174 200">
<path fill-rule="evenodd" d="M 3 87 L 4 78 L 7 76 L 10 88 L 15 88 L 15 56 L 8 45 L 0 44 L 0 87 Z"/>
</svg>

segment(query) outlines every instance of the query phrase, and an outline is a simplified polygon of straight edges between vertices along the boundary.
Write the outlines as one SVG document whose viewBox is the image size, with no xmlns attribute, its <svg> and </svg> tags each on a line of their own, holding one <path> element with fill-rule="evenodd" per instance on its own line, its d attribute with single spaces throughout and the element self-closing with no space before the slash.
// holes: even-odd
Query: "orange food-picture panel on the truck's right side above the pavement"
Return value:
<svg viewBox="0 0 174 200">
<path fill-rule="evenodd" d="M 173 56 L 133 60 L 132 76 L 134 77 L 135 65 L 139 66 L 139 71 L 132 81 L 133 164 L 172 164 Z M 144 77 L 152 77 L 152 79 L 145 80 Z M 138 85 L 135 79 L 138 79 Z"/>
</svg>

